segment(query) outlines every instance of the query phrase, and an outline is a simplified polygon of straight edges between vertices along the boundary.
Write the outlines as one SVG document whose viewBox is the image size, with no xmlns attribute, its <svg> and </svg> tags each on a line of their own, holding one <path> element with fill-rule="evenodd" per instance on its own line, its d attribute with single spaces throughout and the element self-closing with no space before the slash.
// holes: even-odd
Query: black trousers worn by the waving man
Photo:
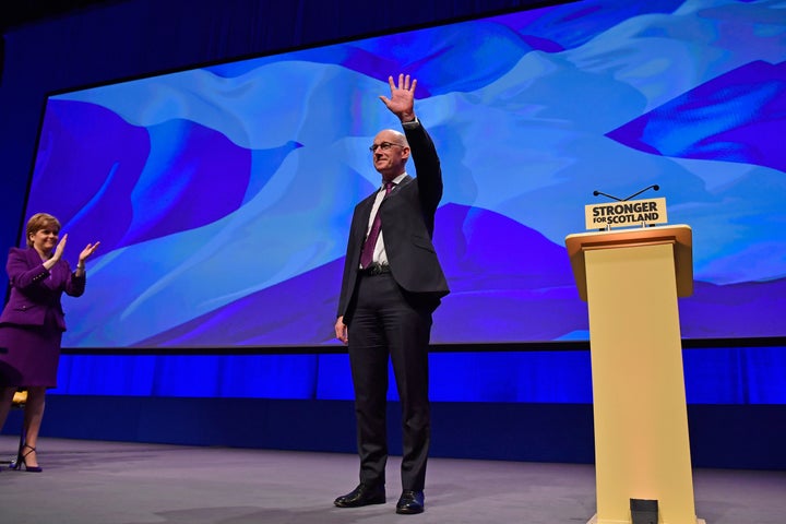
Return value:
<svg viewBox="0 0 786 524">
<path fill-rule="evenodd" d="M 402 406 L 402 489 L 422 490 L 430 444 L 428 347 L 433 307 L 408 296 L 390 273 L 359 276 L 348 326 L 360 481 L 384 484 L 388 362 Z"/>
</svg>

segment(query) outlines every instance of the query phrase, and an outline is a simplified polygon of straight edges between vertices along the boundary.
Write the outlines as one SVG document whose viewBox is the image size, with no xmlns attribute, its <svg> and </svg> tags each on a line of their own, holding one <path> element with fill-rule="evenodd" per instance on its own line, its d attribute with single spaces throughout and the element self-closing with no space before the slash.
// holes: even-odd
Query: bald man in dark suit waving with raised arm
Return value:
<svg viewBox="0 0 786 524">
<path fill-rule="evenodd" d="M 402 495 L 396 513 L 424 511 L 430 442 L 428 346 L 431 314 L 449 293 L 431 241 L 442 171 L 431 138 L 415 116 L 416 80 L 389 79 L 384 105 L 404 133 L 386 129 L 370 150 L 382 187 L 355 207 L 338 301 L 336 337 L 348 344 L 355 386 L 360 484 L 335 505 L 385 502 L 388 361 L 402 405 Z M 417 178 L 405 166 L 412 155 Z M 378 234 L 379 231 L 379 234 Z"/>
</svg>

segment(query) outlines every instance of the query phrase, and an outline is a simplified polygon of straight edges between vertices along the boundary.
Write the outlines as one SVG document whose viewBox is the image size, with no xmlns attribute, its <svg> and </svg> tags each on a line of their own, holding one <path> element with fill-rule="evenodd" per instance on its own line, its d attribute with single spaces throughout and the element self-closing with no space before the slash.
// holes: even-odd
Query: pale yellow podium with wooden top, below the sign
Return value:
<svg viewBox="0 0 786 524">
<path fill-rule="evenodd" d="M 695 515 L 677 297 L 693 293 L 689 226 L 565 238 L 590 311 L 597 524 L 631 524 L 631 499 L 658 524 Z M 650 502 L 652 503 L 652 502 Z"/>
</svg>

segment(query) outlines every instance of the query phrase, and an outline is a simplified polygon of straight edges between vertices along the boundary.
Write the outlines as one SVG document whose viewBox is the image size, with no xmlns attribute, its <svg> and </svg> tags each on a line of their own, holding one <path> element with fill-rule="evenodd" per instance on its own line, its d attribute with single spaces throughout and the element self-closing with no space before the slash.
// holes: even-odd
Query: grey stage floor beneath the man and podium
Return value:
<svg viewBox="0 0 786 524">
<path fill-rule="evenodd" d="M 0 437 L 0 457 L 15 444 Z M 386 504 L 338 509 L 354 455 L 58 439 L 39 450 L 44 473 L 0 472 L 0 522 L 571 524 L 595 513 L 590 465 L 432 458 L 426 513 L 396 515 L 397 457 Z M 786 522 L 786 472 L 698 469 L 694 491 L 707 524 Z"/>
</svg>

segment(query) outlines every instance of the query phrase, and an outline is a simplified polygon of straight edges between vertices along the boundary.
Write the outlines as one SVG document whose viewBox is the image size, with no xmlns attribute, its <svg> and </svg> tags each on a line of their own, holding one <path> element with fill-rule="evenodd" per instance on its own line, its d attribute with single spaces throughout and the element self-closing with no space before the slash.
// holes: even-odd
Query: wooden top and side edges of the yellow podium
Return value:
<svg viewBox="0 0 786 524">
<path fill-rule="evenodd" d="M 624 230 L 576 233 L 565 237 L 565 248 L 575 276 L 579 296 L 587 299 L 584 253 L 593 249 L 618 249 L 671 243 L 675 247 L 677 296 L 693 293 L 693 234 L 690 226 L 678 224 Z"/>
</svg>

